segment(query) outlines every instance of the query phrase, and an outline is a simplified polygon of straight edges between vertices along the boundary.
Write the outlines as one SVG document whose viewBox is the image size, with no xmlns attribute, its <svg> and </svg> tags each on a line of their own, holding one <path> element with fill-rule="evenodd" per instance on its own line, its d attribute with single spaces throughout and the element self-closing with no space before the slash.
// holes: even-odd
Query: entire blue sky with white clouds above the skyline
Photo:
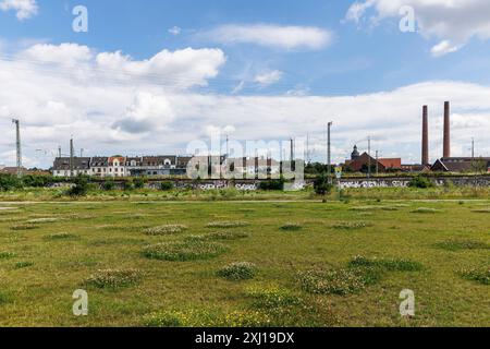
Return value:
<svg viewBox="0 0 490 349">
<path fill-rule="evenodd" d="M 416 164 L 424 105 L 442 156 L 445 100 L 453 155 L 490 156 L 489 17 L 488 0 L 0 0 L 0 164 L 12 117 L 27 167 L 71 136 L 85 156 L 184 155 L 217 131 L 308 135 L 326 161 L 329 121 L 338 163 L 370 137 Z"/>
</svg>

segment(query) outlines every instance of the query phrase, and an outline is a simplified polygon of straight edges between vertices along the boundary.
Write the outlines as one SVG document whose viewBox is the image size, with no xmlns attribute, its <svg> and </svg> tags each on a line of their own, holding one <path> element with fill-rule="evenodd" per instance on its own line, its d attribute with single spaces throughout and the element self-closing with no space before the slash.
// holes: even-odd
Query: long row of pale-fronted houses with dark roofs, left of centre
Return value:
<svg viewBox="0 0 490 349">
<path fill-rule="evenodd" d="M 219 158 L 219 159 L 218 159 Z M 225 156 L 191 157 L 191 156 L 143 156 L 143 157 L 58 157 L 54 159 L 52 174 L 71 177 L 86 174 L 93 177 L 159 177 L 184 176 L 191 160 L 208 164 L 208 172 L 221 173 L 223 169 L 237 177 L 253 178 L 257 173 L 280 173 L 280 163 L 268 158 L 226 158 Z M 73 164 L 71 163 L 73 161 Z"/>
</svg>

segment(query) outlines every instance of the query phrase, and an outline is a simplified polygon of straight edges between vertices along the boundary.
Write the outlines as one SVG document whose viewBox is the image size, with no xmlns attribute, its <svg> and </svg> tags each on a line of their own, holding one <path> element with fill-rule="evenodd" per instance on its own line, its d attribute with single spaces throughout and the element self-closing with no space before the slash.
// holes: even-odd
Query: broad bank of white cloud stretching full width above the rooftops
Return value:
<svg viewBox="0 0 490 349">
<path fill-rule="evenodd" d="M 431 156 L 441 156 L 442 108 L 451 100 L 453 115 L 454 155 L 465 155 L 471 137 L 479 149 L 490 148 L 490 86 L 462 82 L 426 82 L 373 94 L 356 96 L 238 96 L 198 94 L 181 88 L 180 77 L 194 85 L 218 72 L 221 55 L 212 50 L 193 50 L 194 59 L 175 62 L 179 51 L 167 52 L 167 59 L 135 61 L 122 53 L 106 55 L 101 68 L 90 49 L 73 47 L 83 59 L 66 53 L 68 48 L 26 50 L 14 61 L 0 61 L 0 154 L 14 148 L 15 133 L 11 117 L 22 122 L 26 158 L 35 158 L 35 149 L 66 149 L 71 134 L 75 146 L 90 149 L 87 155 L 183 153 L 187 142 L 197 135 L 206 137 L 210 128 L 233 133 L 236 140 L 286 140 L 306 133 L 317 140 L 313 148 L 324 147 L 326 116 L 334 121 L 335 160 L 342 160 L 354 143 L 366 148 L 373 137 L 373 147 L 382 154 L 397 154 L 404 161 L 416 161 L 420 147 L 421 106 L 430 107 Z M 89 53 L 86 53 L 88 50 Z M 62 64 L 33 63 L 26 52 L 42 53 L 36 59 L 68 57 L 72 68 Z M 53 53 L 54 52 L 54 53 Z M 85 53 L 84 53 L 85 52 Z M 32 56 L 30 56 L 32 57 Z M 110 58 L 110 59 L 109 59 Z M 114 61 L 112 61 L 112 59 Z M 211 64 L 210 61 L 215 61 Z M 169 72 L 169 67 L 172 71 Z M 199 69 L 199 67 L 201 67 Z M 78 69 L 79 68 L 79 69 Z M 174 71 L 176 70 L 177 71 Z M 85 79 L 77 72 L 85 72 Z M 127 72 L 122 79 L 121 70 Z M 152 74 L 149 74 L 151 72 Z M 162 86 L 155 80 L 158 72 L 169 72 L 177 88 Z M 132 79 L 131 74 L 136 77 Z M 198 74 L 199 73 L 199 74 Z M 88 76 L 88 77 L 87 77 Z M 166 75 L 162 75 L 166 76 Z M 167 83 L 170 84 L 169 81 Z M 301 86 L 298 86 L 299 88 Z M 211 125 L 211 127 L 210 127 Z M 226 128 L 230 125 L 230 128 Z M 205 139 L 207 140 L 207 139 Z M 315 159 L 323 159 L 316 152 Z M 478 154 L 480 155 L 480 154 Z M 481 154 L 485 155 L 485 154 Z M 487 154 L 488 155 L 488 154 Z M 419 160 L 419 159 L 418 159 Z M 15 157 L 0 158 L 13 165 Z M 46 159 L 42 163 L 48 167 Z"/>
</svg>

